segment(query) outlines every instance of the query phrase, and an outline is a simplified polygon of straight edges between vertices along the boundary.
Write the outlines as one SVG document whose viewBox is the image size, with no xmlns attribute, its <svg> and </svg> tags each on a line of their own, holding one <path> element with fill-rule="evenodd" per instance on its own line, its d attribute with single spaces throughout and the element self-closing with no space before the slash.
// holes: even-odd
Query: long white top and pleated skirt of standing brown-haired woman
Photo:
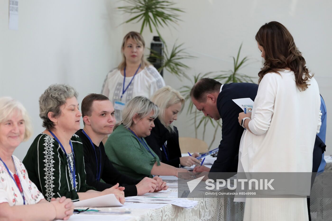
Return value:
<svg viewBox="0 0 332 221">
<path fill-rule="evenodd" d="M 239 168 L 244 172 L 311 172 L 320 96 L 311 78 L 299 91 L 292 71 L 267 73 L 260 82 L 249 122 L 240 143 Z M 241 165 L 240 165 L 241 164 Z M 308 220 L 306 198 L 246 198 L 244 220 Z"/>
</svg>

